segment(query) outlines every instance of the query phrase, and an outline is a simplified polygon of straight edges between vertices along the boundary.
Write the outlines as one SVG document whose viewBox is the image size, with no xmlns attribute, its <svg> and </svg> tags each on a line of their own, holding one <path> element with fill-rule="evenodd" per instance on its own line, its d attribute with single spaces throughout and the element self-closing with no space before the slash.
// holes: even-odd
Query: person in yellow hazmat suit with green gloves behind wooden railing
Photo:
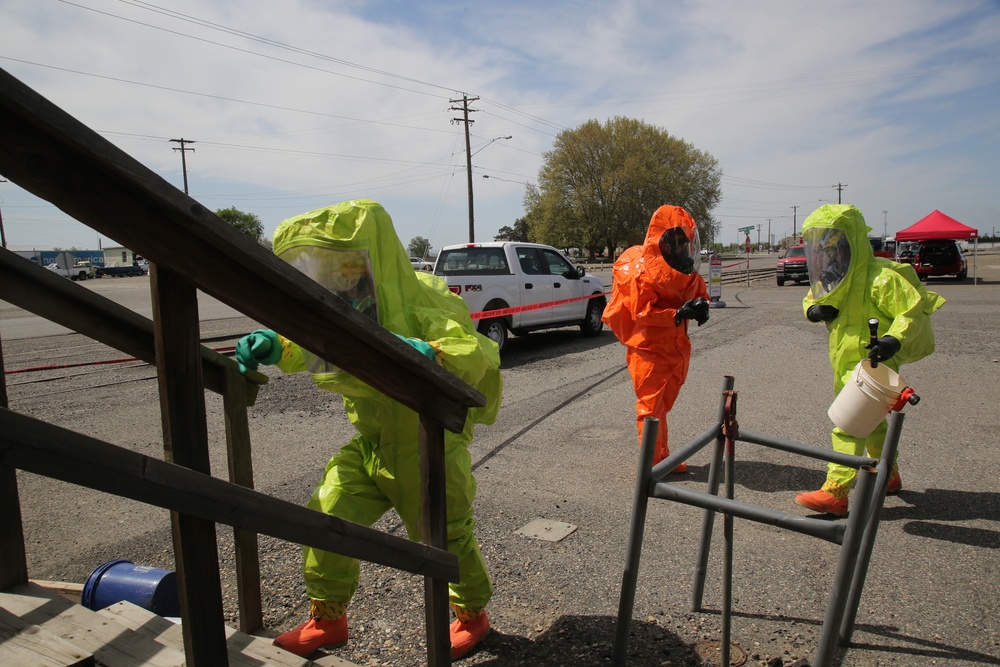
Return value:
<svg viewBox="0 0 1000 667">
<path fill-rule="evenodd" d="M 274 252 L 487 397 L 486 406 L 469 410 L 461 433 L 445 431 L 448 550 L 458 556 L 461 579 L 449 585 L 451 655 L 461 657 L 490 629 L 484 609 L 493 588 L 473 532 L 476 480 L 467 446 L 474 424 L 493 423 L 500 407 L 497 345 L 476 332 L 465 302 L 440 278 L 413 270 L 376 202 L 348 201 L 285 220 L 274 232 Z M 421 538 L 415 412 L 271 330 L 242 338 L 236 358 L 244 372 L 261 363 L 308 371 L 319 388 L 344 398 L 357 434 L 330 459 L 308 507 L 366 526 L 395 508 L 410 538 Z M 274 643 L 305 657 L 347 642 L 346 610 L 360 567 L 354 558 L 303 552 L 309 620 Z"/>
</svg>

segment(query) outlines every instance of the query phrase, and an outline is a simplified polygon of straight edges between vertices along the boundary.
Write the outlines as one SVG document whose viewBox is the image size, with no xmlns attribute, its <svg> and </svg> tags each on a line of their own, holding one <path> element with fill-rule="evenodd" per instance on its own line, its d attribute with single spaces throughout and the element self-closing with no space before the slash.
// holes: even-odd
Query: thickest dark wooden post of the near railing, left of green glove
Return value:
<svg viewBox="0 0 1000 667">
<path fill-rule="evenodd" d="M 211 474 L 193 283 L 153 266 L 153 329 L 166 460 Z M 228 665 L 215 523 L 170 515 L 188 667 Z"/>
</svg>

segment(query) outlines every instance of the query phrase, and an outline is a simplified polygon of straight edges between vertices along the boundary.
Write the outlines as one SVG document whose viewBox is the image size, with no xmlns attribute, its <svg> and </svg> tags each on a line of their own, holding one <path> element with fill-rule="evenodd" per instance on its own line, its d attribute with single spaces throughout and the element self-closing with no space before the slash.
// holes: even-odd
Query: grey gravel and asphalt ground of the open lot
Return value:
<svg viewBox="0 0 1000 667">
<path fill-rule="evenodd" d="M 990 446 L 1000 286 L 985 273 L 1000 258 L 987 257 L 980 258 L 985 285 L 932 283 L 949 300 L 935 316 L 938 352 L 903 369 L 924 400 L 907 410 L 904 490 L 886 501 L 854 645 L 839 658 L 844 667 L 1000 665 L 1000 455 Z M 692 333 L 691 372 L 670 416 L 675 447 L 711 426 L 725 375 L 736 377 L 738 417 L 746 428 L 829 443 L 825 335 L 801 316 L 804 291 L 770 284 L 724 288 L 728 307 L 714 310 Z M 208 336 L 249 330 L 252 323 L 220 320 L 204 327 Z M 8 369 L 57 352 L 118 354 L 80 336 L 3 345 Z M 22 378 L 8 378 L 11 408 L 161 455 L 153 370 L 135 365 L 101 373 L 23 385 Z M 352 429 L 338 397 L 303 376 L 271 376 L 250 413 L 256 488 L 304 503 Z M 609 332 L 595 339 L 571 329 L 534 333 L 512 339 L 504 378 L 500 418 L 480 427 L 472 444 L 477 535 L 495 587 L 493 632 L 461 664 L 610 664 L 637 454 L 624 352 Z M 67 382 L 81 389 L 68 391 Z M 207 401 L 210 438 L 217 443 L 213 466 L 224 476 L 220 400 Z M 809 514 L 792 498 L 818 487 L 822 464 L 745 443 L 737 445 L 737 461 L 737 499 Z M 704 488 L 707 452 L 689 463 L 688 474 L 670 481 Z M 19 480 L 32 577 L 82 582 L 112 558 L 173 567 L 165 512 L 28 474 Z M 518 534 L 534 519 L 575 530 L 558 542 Z M 690 595 L 701 512 L 676 503 L 650 506 L 630 665 L 713 664 L 706 656 L 721 636 L 721 523 L 720 517 L 705 609 L 695 613 Z M 404 533 L 394 514 L 377 527 Z M 218 534 L 226 613 L 235 624 L 232 541 L 228 529 Z M 742 521 L 735 543 L 733 657 L 767 667 L 808 664 L 839 550 Z M 260 556 L 265 622 L 275 631 L 294 627 L 307 611 L 299 549 L 262 537 Z M 351 641 L 333 655 L 358 665 L 425 664 L 421 579 L 364 564 L 349 617 Z"/>
</svg>

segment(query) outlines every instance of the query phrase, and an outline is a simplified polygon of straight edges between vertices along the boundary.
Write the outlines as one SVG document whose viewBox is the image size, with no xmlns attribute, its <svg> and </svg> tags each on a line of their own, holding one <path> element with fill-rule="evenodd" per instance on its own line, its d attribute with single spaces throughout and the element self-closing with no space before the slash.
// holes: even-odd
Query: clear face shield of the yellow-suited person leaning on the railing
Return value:
<svg viewBox="0 0 1000 667">
<path fill-rule="evenodd" d="M 317 246 L 294 246 L 280 255 L 296 269 L 349 303 L 355 310 L 378 322 L 378 293 L 367 250 L 334 250 Z M 311 373 L 336 373 L 337 366 L 305 348 L 302 356 Z"/>
</svg>

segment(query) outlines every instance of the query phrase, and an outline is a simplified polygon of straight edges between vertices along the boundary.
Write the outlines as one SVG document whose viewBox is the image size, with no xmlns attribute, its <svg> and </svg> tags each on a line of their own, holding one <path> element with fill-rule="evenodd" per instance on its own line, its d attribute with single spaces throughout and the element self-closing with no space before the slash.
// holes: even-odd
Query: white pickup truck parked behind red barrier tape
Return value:
<svg viewBox="0 0 1000 667">
<path fill-rule="evenodd" d="M 579 326 L 584 336 L 597 336 L 604 328 L 604 284 L 551 246 L 514 241 L 445 246 L 434 274 L 465 299 L 479 332 L 501 350 L 508 332 Z M 484 311 L 501 312 L 477 318 Z"/>
</svg>

